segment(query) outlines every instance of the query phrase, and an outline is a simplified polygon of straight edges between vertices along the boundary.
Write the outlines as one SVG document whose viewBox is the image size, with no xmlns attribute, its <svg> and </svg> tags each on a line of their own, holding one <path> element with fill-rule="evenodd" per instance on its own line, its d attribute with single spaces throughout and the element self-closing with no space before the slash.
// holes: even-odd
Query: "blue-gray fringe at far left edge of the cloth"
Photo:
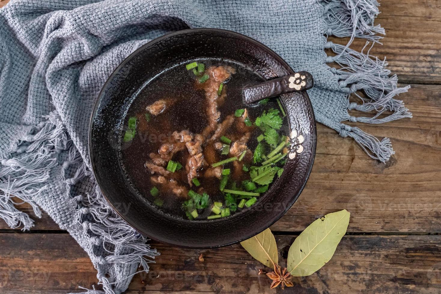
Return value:
<svg viewBox="0 0 441 294">
<path fill-rule="evenodd" d="M 66 140 L 65 140 L 66 139 Z M 51 144 L 44 142 L 49 140 Z M 34 202 L 45 190 L 45 181 L 49 179 L 49 171 L 58 164 L 53 151 L 60 152 L 67 148 L 67 137 L 63 132 L 63 124 L 59 117 L 52 114 L 51 119 L 37 125 L 12 150 L 10 158 L 1 160 L 0 168 L 0 217 L 11 228 L 29 230 L 34 221 L 16 209 L 15 205 L 29 203 L 37 217 L 41 217 L 41 210 Z M 14 157 L 15 155 L 20 156 Z M 15 202 L 12 197 L 22 202 Z"/>
</svg>

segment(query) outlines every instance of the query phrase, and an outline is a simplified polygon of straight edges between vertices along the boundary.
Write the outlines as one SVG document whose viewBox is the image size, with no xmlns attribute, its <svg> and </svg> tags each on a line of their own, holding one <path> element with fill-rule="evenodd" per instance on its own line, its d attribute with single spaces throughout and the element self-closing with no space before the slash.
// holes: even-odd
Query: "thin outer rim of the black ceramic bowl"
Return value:
<svg viewBox="0 0 441 294">
<path fill-rule="evenodd" d="M 152 240 L 156 240 L 157 242 L 163 243 L 163 244 L 167 244 L 167 245 L 171 245 L 171 246 L 178 246 L 181 248 L 187 248 L 187 249 L 209 249 L 209 248 L 219 248 L 219 247 L 223 247 L 223 246 L 229 246 L 229 245 L 233 245 L 239 242 L 242 242 L 244 240 L 250 239 L 252 238 L 254 235 L 257 235 L 263 231 L 265 231 L 267 228 L 271 227 L 276 221 L 280 220 L 281 217 L 283 217 L 285 215 L 285 213 L 288 212 L 288 210 L 294 205 L 294 203 L 297 201 L 297 199 L 299 198 L 300 194 L 303 192 L 303 189 L 306 185 L 306 182 L 309 180 L 309 176 L 312 170 L 312 167 L 314 165 L 314 160 L 315 160 L 315 154 L 316 154 L 316 149 L 317 149 L 317 124 L 316 124 L 316 120 L 315 120 L 315 114 L 314 114 L 314 109 L 312 107 L 309 95 L 306 91 L 302 91 L 303 95 L 305 95 L 306 97 L 306 102 L 309 105 L 310 109 L 311 109 L 311 125 L 313 126 L 314 129 L 314 136 L 312 137 L 312 150 L 311 150 L 311 160 L 310 160 L 310 165 L 308 166 L 308 168 L 306 169 L 306 174 L 304 176 L 304 181 L 303 181 L 303 185 L 301 187 L 299 187 L 298 192 L 293 195 L 294 197 L 292 197 L 291 201 L 288 202 L 288 205 L 286 206 L 286 208 L 279 214 L 277 215 L 277 217 L 275 217 L 272 221 L 270 221 L 269 223 L 265 224 L 265 228 L 262 230 L 257 230 L 257 231 L 253 231 L 253 232 L 249 232 L 248 234 L 244 234 L 243 237 L 241 239 L 238 239 L 236 241 L 232 241 L 232 242 L 228 242 L 226 244 L 220 244 L 220 245 L 216 245 L 216 246 L 197 246 L 197 243 L 194 243 L 194 245 L 183 245 L 183 244 L 179 244 L 179 241 L 177 241 L 176 243 L 173 242 L 167 242 L 167 241 L 163 241 L 163 240 L 158 240 L 157 238 L 155 238 L 155 236 L 150 235 L 147 232 L 143 232 L 142 229 L 140 228 L 135 228 L 134 224 L 131 223 L 131 221 L 127 220 L 127 217 L 121 213 L 118 209 L 116 209 L 116 207 L 112 204 L 112 201 L 109 201 L 109 198 L 107 195 L 105 195 L 105 193 L 102 191 L 101 189 L 101 185 L 102 183 L 100 183 L 99 177 L 97 177 L 97 172 L 96 172 L 96 166 L 92 161 L 93 158 L 93 152 L 92 152 L 92 136 L 91 133 L 93 131 L 93 118 L 96 116 L 97 114 L 97 110 L 99 108 L 101 99 L 100 97 L 103 94 L 103 91 L 105 91 L 105 89 L 108 87 L 108 85 L 113 81 L 113 78 L 120 72 L 120 69 L 125 66 L 127 64 L 127 62 L 129 62 L 135 55 L 138 54 L 139 51 L 144 50 L 146 47 L 152 46 L 158 42 L 161 42 L 164 39 L 167 39 L 169 37 L 173 37 L 173 36 L 177 36 L 180 34 L 185 34 L 185 33 L 198 33 L 198 32 L 223 32 L 223 33 L 229 33 L 232 35 L 235 35 L 237 37 L 243 38 L 247 41 L 250 41 L 251 43 L 256 44 L 258 47 L 262 47 L 263 49 L 269 51 L 269 53 L 271 55 L 273 55 L 273 57 L 275 59 L 277 59 L 278 62 L 280 62 L 280 64 L 282 64 L 283 66 L 286 66 L 289 70 L 291 70 L 292 73 L 294 73 L 294 70 L 292 70 L 291 66 L 282 58 L 280 57 L 280 55 L 278 55 L 275 51 L 273 51 L 271 48 L 269 48 L 268 46 L 266 46 L 265 44 L 262 44 L 261 42 L 259 42 L 258 40 L 255 40 L 254 38 L 248 37 L 247 35 L 241 34 L 241 33 L 237 33 L 235 31 L 231 31 L 228 29 L 217 29 L 217 28 L 195 28 L 195 29 L 183 29 L 183 30 L 179 30 L 176 32 L 171 32 L 171 33 L 166 33 L 160 37 L 157 37 L 153 40 L 150 40 L 149 42 L 147 42 L 146 44 L 143 44 L 142 46 L 140 46 L 139 48 L 137 48 L 135 51 L 133 51 L 131 54 L 129 54 L 126 58 L 123 59 L 122 62 L 120 62 L 120 64 L 115 68 L 115 70 L 112 71 L 112 74 L 109 75 L 109 77 L 107 78 L 107 80 L 105 81 L 105 83 L 103 84 L 103 86 L 101 87 L 100 92 L 97 95 L 97 98 L 95 99 L 95 103 L 93 105 L 93 109 L 92 112 L 90 114 L 90 120 L 89 120 L 89 131 L 88 131 L 88 152 L 89 152 L 89 160 L 90 160 L 90 164 L 91 164 L 91 172 L 93 174 L 93 177 L 97 183 L 98 188 L 101 191 L 101 194 L 103 195 L 103 197 L 105 198 L 106 202 L 108 203 L 108 205 L 113 209 L 113 211 L 123 219 L 123 221 L 125 221 L 131 228 L 133 228 L 135 230 L 135 232 L 138 232 L 144 236 L 146 236 L 149 239 Z"/>
</svg>

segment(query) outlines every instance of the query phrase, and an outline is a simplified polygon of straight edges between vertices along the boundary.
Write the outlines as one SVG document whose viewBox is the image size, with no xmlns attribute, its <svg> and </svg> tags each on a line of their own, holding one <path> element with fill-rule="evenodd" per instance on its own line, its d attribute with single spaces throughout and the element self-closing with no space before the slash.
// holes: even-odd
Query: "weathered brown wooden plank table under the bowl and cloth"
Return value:
<svg viewBox="0 0 441 294">
<path fill-rule="evenodd" d="M 0 2 L 0 7 L 5 1 Z M 391 138 L 396 154 L 371 160 L 350 138 L 318 124 L 314 168 L 299 200 L 271 229 L 280 255 L 323 214 L 348 209 L 351 223 L 334 257 L 286 293 L 441 292 L 441 2 L 383 1 L 377 22 L 412 119 L 354 124 Z M 344 44 L 345 40 L 333 41 Z M 352 46 L 361 49 L 363 41 Z M 29 207 L 24 206 L 29 211 Z M 127 293 L 274 293 L 263 268 L 240 245 L 184 250 L 160 243 L 156 264 L 135 276 Z M 205 261 L 198 261 L 199 254 Z M 0 222 L 0 292 L 66 293 L 97 283 L 86 253 L 47 216 L 29 232 Z M 75 290 L 77 289 L 77 290 Z"/>
</svg>

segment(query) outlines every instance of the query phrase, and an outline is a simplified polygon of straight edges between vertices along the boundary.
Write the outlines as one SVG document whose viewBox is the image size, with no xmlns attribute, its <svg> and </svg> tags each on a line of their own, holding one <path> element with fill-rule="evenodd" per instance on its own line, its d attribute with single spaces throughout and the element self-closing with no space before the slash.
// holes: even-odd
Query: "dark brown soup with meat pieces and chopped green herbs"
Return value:
<svg viewBox="0 0 441 294">
<path fill-rule="evenodd" d="M 245 66 L 198 59 L 165 70 L 127 110 L 120 161 L 138 194 L 164 213 L 214 219 L 252 206 L 283 172 L 288 119 L 278 99 L 245 105 Z"/>
</svg>

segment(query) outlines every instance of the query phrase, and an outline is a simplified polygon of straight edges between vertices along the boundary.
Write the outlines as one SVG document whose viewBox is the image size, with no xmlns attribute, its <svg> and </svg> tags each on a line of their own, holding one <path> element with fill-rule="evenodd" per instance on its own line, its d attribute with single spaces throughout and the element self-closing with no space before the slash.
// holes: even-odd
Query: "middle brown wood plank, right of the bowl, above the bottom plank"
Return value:
<svg viewBox="0 0 441 294">
<path fill-rule="evenodd" d="M 441 232 L 441 135 L 434 132 L 441 131 L 441 86 L 412 85 L 400 99 L 412 119 L 354 124 L 391 138 L 396 154 L 387 164 L 368 158 L 352 139 L 318 125 L 310 179 L 273 230 L 302 231 L 316 217 L 346 208 L 352 213 L 349 232 Z M 0 222 L 0 228 L 7 226 Z M 47 215 L 35 228 L 58 229 Z"/>
</svg>

